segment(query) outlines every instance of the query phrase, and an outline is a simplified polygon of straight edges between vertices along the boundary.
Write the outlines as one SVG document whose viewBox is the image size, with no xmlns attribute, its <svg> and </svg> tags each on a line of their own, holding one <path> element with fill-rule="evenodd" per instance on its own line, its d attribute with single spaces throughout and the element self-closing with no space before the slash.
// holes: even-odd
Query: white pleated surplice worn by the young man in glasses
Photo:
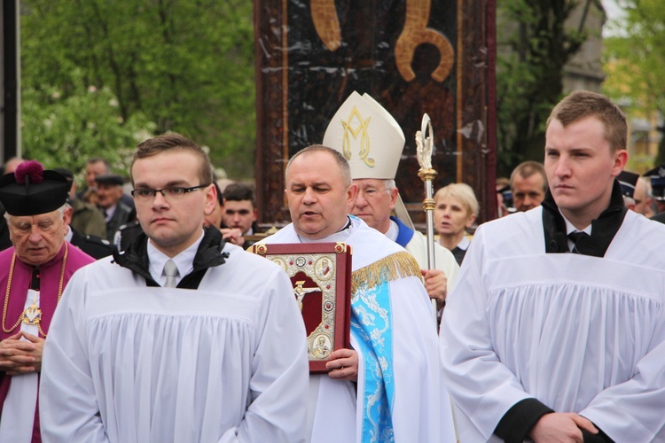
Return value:
<svg viewBox="0 0 665 443">
<path fill-rule="evenodd" d="M 226 244 L 197 290 L 146 287 L 99 260 L 77 272 L 43 358 L 43 440 L 304 440 L 307 345 L 278 266 Z"/>
</svg>

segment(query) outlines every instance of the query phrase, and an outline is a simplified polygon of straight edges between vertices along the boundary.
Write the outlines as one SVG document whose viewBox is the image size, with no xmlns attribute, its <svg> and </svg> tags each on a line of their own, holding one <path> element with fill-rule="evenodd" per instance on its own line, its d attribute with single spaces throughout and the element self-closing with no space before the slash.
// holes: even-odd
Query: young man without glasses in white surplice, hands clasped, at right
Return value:
<svg viewBox="0 0 665 443">
<path fill-rule="evenodd" d="M 665 441 L 665 227 L 623 203 L 627 135 L 565 97 L 542 205 L 476 230 L 440 334 L 460 441 Z"/>
</svg>

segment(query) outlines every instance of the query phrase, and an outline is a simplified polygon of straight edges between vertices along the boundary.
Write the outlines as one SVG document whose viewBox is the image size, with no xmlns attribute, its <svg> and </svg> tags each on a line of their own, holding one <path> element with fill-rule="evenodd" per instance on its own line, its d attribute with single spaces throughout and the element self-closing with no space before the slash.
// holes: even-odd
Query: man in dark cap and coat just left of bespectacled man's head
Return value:
<svg viewBox="0 0 665 443">
<path fill-rule="evenodd" d="M 97 205 L 106 220 L 106 240 L 113 242 L 115 232 L 134 218 L 131 207 L 121 202 L 122 184 L 125 183 L 125 179 L 122 175 L 98 175 L 95 177 L 95 183 L 97 183 Z"/>
</svg>

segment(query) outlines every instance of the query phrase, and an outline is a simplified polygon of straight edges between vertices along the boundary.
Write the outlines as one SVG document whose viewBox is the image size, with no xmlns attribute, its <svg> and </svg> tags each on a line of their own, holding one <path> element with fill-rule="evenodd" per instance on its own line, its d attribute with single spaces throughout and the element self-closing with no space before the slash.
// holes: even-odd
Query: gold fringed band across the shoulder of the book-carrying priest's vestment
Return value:
<svg viewBox="0 0 665 443">
<path fill-rule="evenodd" d="M 361 285 L 372 289 L 383 282 L 406 276 L 417 276 L 422 280 L 418 261 L 406 251 L 390 254 L 371 265 L 354 271 L 351 277 L 351 293 L 355 293 Z"/>
</svg>

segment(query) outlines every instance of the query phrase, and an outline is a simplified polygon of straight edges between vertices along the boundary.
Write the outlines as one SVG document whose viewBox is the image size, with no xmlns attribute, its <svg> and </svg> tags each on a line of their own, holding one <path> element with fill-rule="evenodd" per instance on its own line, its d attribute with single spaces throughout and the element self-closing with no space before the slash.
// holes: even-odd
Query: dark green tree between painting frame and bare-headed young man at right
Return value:
<svg viewBox="0 0 665 443">
<path fill-rule="evenodd" d="M 525 159 L 541 160 L 544 123 L 562 96 L 567 61 L 586 39 L 569 26 L 591 0 L 505 0 L 497 3 L 498 175 Z"/>
</svg>

